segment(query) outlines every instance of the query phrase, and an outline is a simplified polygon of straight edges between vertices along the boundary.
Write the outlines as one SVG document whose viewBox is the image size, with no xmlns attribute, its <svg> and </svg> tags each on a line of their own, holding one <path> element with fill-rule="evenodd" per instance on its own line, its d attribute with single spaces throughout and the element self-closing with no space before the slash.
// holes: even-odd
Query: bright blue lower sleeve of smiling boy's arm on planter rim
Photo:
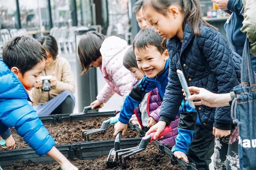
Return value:
<svg viewBox="0 0 256 170">
<path fill-rule="evenodd" d="M 172 148 L 172 152 L 181 151 L 187 154 L 189 146 L 193 139 L 194 130 L 186 130 L 178 128 L 178 135 L 175 139 L 176 144 Z"/>
</svg>

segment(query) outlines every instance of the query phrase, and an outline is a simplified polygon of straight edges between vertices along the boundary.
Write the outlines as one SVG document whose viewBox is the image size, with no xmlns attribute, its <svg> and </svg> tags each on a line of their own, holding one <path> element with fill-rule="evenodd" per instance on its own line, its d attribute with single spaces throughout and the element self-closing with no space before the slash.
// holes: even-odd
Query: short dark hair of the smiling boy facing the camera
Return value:
<svg viewBox="0 0 256 170">
<path fill-rule="evenodd" d="M 157 34 L 154 28 L 140 30 L 134 38 L 133 47 L 137 50 L 145 50 L 149 45 L 157 47 L 158 51 L 163 54 L 166 47 L 161 46 L 163 38 Z"/>
</svg>

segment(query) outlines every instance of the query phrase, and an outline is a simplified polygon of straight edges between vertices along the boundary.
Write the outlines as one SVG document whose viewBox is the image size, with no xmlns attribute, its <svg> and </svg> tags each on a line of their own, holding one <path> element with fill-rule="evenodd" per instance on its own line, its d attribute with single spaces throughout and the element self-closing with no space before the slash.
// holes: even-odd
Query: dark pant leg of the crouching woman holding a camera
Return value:
<svg viewBox="0 0 256 170">
<path fill-rule="evenodd" d="M 70 96 L 67 96 L 67 98 L 60 105 L 58 105 L 58 107 L 55 108 L 51 114 L 73 113 L 74 107 L 75 103 L 73 102 L 73 99 Z"/>
</svg>

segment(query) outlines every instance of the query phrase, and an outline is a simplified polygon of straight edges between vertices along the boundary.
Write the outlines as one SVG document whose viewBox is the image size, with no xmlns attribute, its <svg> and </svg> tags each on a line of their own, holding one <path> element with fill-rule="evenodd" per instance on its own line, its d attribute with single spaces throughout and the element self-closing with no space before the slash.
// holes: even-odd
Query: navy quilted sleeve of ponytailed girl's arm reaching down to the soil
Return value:
<svg viewBox="0 0 256 170">
<path fill-rule="evenodd" d="M 169 52 L 169 54 L 172 53 Z M 175 120 L 177 112 L 179 111 L 180 103 L 183 99 L 181 91 L 182 88 L 176 71 L 176 66 L 173 64 L 172 59 L 170 58 L 168 74 L 169 82 L 163 96 L 159 119 L 166 122 L 167 125 L 169 125 L 171 121 Z"/>
</svg>

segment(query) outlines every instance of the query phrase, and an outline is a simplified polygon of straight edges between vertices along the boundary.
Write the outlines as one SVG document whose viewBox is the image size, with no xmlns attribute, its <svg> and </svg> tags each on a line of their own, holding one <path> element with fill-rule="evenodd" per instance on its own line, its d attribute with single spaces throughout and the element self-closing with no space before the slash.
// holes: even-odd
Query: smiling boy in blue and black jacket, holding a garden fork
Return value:
<svg viewBox="0 0 256 170">
<path fill-rule="evenodd" d="M 116 136 L 120 131 L 124 135 L 134 109 L 140 104 L 146 93 L 157 88 L 161 98 L 163 98 L 168 84 L 169 55 L 166 47 L 161 46 L 162 40 L 163 38 L 153 28 L 141 30 L 134 38 L 133 46 L 137 65 L 145 73 L 145 77 L 126 96 L 113 136 Z M 178 131 L 180 136 L 186 137 L 187 144 L 190 144 L 195 130 L 197 114 L 185 100 L 180 105 L 180 112 L 185 112 L 185 114 L 183 119 L 180 119 Z"/>
</svg>

